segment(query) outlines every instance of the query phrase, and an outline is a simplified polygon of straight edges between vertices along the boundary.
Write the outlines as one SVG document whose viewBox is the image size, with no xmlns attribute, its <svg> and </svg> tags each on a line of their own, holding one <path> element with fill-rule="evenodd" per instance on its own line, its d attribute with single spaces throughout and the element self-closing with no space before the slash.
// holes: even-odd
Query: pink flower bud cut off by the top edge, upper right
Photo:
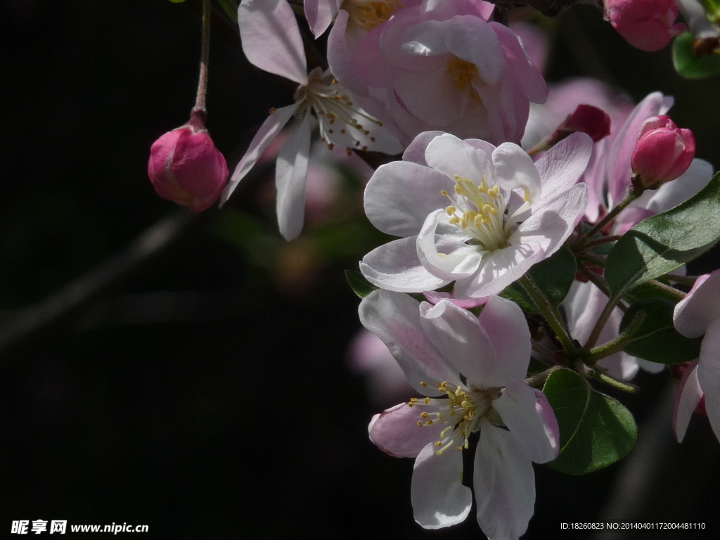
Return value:
<svg viewBox="0 0 720 540">
<path fill-rule="evenodd" d="M 685 30 L 675 0 L 605 0 L 605 16 L 630 45 L 649 53 Z"/>
</svg>

